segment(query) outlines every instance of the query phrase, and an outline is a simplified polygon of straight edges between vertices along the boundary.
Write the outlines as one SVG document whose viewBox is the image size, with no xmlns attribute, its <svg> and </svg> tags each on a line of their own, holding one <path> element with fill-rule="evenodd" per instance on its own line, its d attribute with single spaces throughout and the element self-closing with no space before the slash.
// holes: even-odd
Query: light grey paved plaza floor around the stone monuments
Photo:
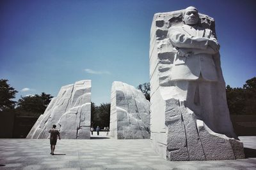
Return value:
<svg viewBox="0 0 256 170">
<path fill-rule="evenodd" d="M 49 139 L 0 139 L 0 169 L 256 169 L 256 136 L 240 137 L 246 159 L 168 162 L 149 139 L 61 139 L 50 155 Z"/>
</svg>

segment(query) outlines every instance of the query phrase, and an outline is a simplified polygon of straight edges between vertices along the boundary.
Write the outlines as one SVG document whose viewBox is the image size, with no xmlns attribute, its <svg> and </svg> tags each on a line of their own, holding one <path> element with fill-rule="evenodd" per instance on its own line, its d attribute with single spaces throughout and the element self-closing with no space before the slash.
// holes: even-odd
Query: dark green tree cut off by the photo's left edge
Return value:
<svg viewBox="0 0 256 170">
<path fill-rule="evenodd" d="M 8 83 L 8 80 L 0 80 L 0 111 L 10 110 L 15 107 L 15 101 L 12 99 L 15 98 L 15 94 L 18 92 Z"/>
</svg>

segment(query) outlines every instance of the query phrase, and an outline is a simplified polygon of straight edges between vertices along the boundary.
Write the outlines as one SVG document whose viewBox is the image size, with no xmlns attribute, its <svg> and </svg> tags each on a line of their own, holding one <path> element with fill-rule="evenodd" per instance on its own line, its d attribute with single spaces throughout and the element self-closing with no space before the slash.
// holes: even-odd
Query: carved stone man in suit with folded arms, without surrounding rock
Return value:
<svg viewBox="0 0 256 170">
<path fill-rule="evenodd" d="M 186 90 L 185 106 L 204 120 L 212 130 L 214 124 L 214 100 L 216 91 L 211 84 L 218 82 L 214 54 L 220 45 L 210 29 L 198 25 L 199 16 L 196 8 L 189 6 L 184 11 L 184 25 L 170 27 L 168 38 L 177 50 L 173 61 L 171 80 L 177 81 L 177 87 Z M 186 80 L 186 81 L 184 81 Z M 236 135 L 230 131 L 230 137 Z"/>
</svg>

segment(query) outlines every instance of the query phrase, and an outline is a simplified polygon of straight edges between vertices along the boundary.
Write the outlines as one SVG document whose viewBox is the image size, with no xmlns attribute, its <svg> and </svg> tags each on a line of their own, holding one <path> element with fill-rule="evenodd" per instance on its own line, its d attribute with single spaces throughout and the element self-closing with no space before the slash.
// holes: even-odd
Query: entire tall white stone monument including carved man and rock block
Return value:
<svg viewBox="0 0 256 170">
<path fill-rule="evenodd" d="M 213 18 L 189 6 L 154 15 L 151 139 L 168 160 L 244 157 L 229 117 Z"/>
</svg>

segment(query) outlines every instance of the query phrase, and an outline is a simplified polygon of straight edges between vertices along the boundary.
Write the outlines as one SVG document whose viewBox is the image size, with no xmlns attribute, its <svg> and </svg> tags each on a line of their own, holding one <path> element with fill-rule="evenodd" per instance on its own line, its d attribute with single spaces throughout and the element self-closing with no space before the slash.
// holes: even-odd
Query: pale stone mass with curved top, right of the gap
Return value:
<svg viewBox="0 0 256 170">
<path fill-rule="evenodd" d="M 109 131 L 116 139 L 150 138 L 149 102 L 140 90 L 113 82 Z"/>
</svg>

